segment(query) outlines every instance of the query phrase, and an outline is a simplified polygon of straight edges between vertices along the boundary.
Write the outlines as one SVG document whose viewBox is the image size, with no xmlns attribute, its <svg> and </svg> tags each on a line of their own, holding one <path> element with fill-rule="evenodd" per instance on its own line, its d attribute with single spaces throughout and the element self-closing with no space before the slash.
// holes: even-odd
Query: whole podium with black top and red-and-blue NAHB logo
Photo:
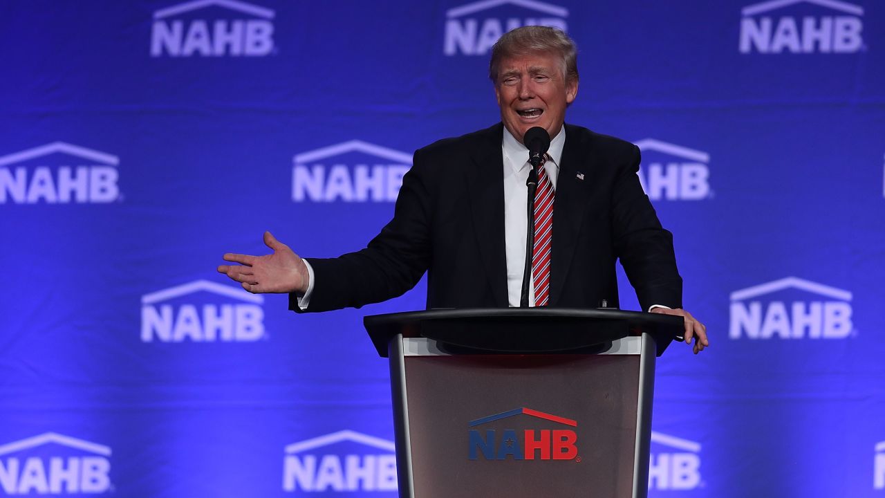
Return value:
<svg viewBox="0 0 885 498">
<path fill-rule="evenodd" d="M 655 357 L 681 317 L 446 309 L 365 324 L 390 361 L 400 496 L 646 496 Z"/>
</svg>

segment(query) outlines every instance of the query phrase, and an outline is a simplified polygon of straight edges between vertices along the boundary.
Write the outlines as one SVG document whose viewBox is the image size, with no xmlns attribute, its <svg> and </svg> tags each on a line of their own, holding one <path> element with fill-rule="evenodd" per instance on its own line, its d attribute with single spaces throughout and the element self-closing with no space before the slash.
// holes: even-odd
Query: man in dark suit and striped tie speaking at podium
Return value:
<svg viewBox="0 0 885 498">
<path fill-rule="evenodd" d="M 365 249 L 303 260 L 266 232 L 273 253 L 227 253 L 239 265 L 219 272 L 249 292 L 289 292 L 296 312 L 388 300 L 425 271 L 427 307 L 599 307 L 617 306 L 620 259 L 644 310 L 683 316 L 686 343 L 709 346 L 681 309 L 673 237 L 639 183 L 639 149 L 565 124 L 573 41 L 514 29 L 492 48 L 489 77 L 501 122 L 415 152 L 393 219 Z"/>
</svg>

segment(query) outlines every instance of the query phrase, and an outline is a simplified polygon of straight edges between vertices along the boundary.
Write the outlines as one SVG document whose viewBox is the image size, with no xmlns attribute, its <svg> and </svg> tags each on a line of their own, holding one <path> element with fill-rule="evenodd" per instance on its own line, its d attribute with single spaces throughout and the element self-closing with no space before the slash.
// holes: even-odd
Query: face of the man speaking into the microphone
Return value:
<svg viewBox="0 0 885 498">
<path fill-rule="evenodd" d="M 501 121 L 522 142 L 528 128 L 540 126 L 556 136 L 566 119 L 566 105 L 578 94 L 578 82 L 566 82 L 560 58 L 537 53 L 502 58 L 495 96 Z"/>
</svg>

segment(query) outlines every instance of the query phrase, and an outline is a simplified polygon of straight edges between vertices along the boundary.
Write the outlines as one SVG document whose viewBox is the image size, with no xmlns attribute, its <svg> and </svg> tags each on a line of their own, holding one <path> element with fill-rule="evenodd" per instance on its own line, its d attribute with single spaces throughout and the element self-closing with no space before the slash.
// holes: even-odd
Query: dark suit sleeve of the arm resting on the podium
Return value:
<svg viewBox="0 0 885 498">
<path fill-rule="evenodd" d="M 682 278 L 676 268 L 673 234 L 664 230 L 639 177 L 640 152 L 632 145 L 612 188 L 612 241 L 636 297 L 652 305 L 682 307 Z"/>
</svg>

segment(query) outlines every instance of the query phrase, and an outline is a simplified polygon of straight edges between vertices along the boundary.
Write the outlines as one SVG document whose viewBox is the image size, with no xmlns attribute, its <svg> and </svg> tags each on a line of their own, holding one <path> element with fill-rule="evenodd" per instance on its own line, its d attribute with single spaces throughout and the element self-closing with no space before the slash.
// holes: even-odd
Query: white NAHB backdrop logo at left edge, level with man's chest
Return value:
<svg viewBox="0 0 885 498">
<path fill-rule="evenodd" d="M 0 204 L 107 204 L 119 200 L 119 158 L 53 142 L 0 156 Z"/>
</svg>

